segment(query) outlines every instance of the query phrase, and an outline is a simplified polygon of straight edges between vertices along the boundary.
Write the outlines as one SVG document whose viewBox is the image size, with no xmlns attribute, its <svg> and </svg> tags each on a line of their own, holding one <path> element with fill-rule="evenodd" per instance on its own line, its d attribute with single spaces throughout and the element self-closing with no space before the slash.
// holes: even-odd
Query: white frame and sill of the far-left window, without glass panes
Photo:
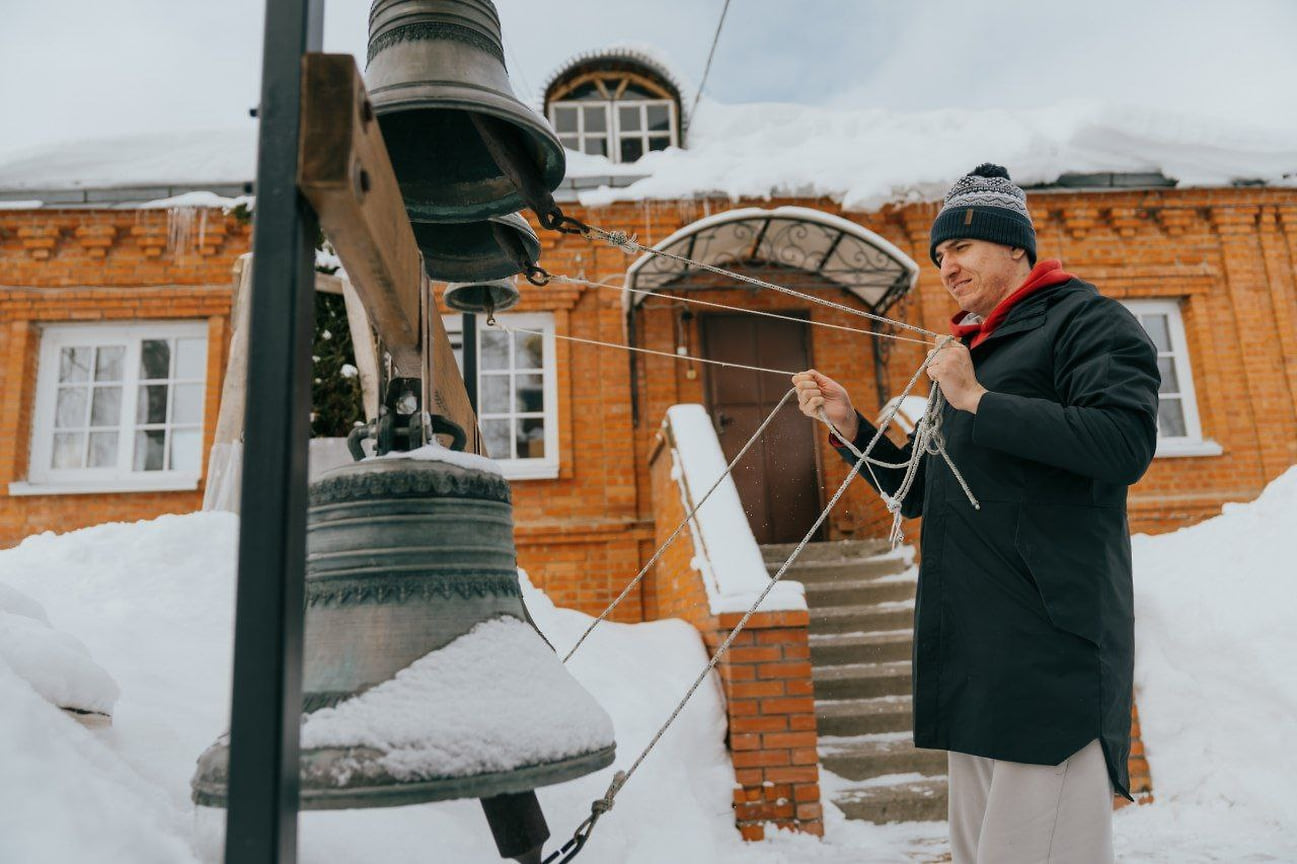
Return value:
<svg viewBox="0 0 1297 864">
<path fill-rule="evenodd" d="M 202 340 L 202 378 L 166 379 L 170 385 L 176 383 L 201 384 L 202 398 L 197 420 L 198 458 L 195 470 L 136 471 L 132 461 L 135 453 L 135 433 L 137 423 L 135 410 L 141 385 L 139 365 L 140 350 L 148 340 Z M 54 414 L 58 398 L 60 354 L 73 346 L 125 345 L 121 381 L 121 420 L 118 424 L 117 464 L 100 468 L 54 468 Z M 202 438 L 206 429 L 208 401 L 208 323 L 193 320 L 132 322 L 122 324 L 48 324 L 40 336 L 40 349 L 36 368 L 36 398 L 31 419 L 31 448 L 27 468 L 27 481 L 9 484 L 10 496 L 34 494 L 83 494 L 102 492 L 174 492 L 198 488 L 202 476 Z M 174 362 L 174 361 L 173 361 Z M 169 401 L 167 413 L 174 410 L 175 398 Z M 156 424 L 143 424 L 152 427 Z M 184 427 L 193 424 L 185 423 Z M 165 428 L 170 428 L 167 419 Z"/>
</svg>

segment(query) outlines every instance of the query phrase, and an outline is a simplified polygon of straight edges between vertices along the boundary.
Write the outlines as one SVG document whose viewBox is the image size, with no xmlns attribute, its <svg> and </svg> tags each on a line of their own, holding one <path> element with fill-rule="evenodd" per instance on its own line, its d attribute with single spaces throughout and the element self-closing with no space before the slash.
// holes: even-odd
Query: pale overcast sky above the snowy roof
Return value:
<svg viewBox="0 0 1297 864">
<path fill-rule="evenodd" d="M 327 51 L 363 62 L 368 5 L 327 0 Z M 647 47 L 696 84 L 722 5 L 498 0 L 524 99 L 568 57 L 611 44 Z M 0 150 L 250 123 L 263 9 L 6 3 Z M 707 95 L 898 110 L 1100 99 L 1287 126 L 1297 122 L 1297 0 L 732 0 Z"/>
</svg>

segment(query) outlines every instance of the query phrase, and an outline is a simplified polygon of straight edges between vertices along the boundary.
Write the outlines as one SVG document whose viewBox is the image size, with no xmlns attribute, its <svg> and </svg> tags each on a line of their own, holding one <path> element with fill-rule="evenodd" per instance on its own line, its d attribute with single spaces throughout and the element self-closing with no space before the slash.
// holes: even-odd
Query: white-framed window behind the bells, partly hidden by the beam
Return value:
<svg viewBox="0 0 1297 864">
<path fill-rule="evenodd" d="M 556 477 L 558 392 L 554 375 L 554 315 L 497 314 L 505 327 L 477 323 L 477 426 L 486 455 L 506 477 Z M 446 335 L 463 370 L 463 318 L 446 315 Z"/>
</svg>

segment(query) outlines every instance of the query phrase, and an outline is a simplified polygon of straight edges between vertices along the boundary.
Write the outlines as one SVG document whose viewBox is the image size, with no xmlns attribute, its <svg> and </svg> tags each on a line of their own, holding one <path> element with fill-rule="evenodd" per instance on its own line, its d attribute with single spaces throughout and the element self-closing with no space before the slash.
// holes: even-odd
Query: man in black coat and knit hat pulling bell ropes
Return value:
<svg viewBox="0 0 1297 864">
<path fill-rule="evenodd" d="M 1112 794 L 1130 797 L 1126 490 L 1157 444 L 1157 354 L 1121 304 L 1038 265 L 1035 246 L 1026 196 L 992 165 L 955 184 L 931 231 L 961 311 L 927 374 L 981 503 L 940 458 L 901 502 L 923 516 L 914 743 L 949 751 L 953 864 L 1112 861 Z M 808 416 L 822 409 L 860 450 L 873 438 L 842 385 L 792 380 Z M 912 446 L 882 437 L 872 455 Z M 874 472 L 896 490 L 903 471 Z"/>
</svg>

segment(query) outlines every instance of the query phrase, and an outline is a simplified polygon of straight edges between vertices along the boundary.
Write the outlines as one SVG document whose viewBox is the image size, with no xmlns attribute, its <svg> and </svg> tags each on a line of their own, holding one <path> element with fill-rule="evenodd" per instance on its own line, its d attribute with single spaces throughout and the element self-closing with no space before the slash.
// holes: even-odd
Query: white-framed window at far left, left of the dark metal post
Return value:
<svg viewBox="0 0 1297 864">
<path fill-rule="evenodd" d="M 206 323 L 47 327 L 10 494 L 196 488 L 206 368 Z"/>
</svg>

